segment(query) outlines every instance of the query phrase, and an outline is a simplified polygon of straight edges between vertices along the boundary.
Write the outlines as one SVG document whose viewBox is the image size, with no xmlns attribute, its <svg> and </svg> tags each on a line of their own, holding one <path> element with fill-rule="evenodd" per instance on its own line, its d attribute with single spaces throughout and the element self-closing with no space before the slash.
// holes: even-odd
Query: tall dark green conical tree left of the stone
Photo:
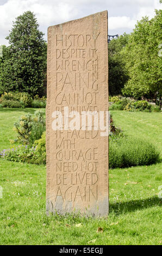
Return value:
<svg viewBox="0 0 162 256">
<path fill-rule="evenodd" d="M 3 51 L 0 88 L 39 94 L 46 73 L 47 44 L 31 11 L 16 18 Z"/>
</svg>

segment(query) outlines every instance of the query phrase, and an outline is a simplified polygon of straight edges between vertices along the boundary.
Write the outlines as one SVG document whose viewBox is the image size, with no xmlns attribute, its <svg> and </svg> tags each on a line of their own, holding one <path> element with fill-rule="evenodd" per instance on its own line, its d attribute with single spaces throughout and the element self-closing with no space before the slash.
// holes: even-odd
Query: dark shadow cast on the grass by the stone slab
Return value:
<svg viewBox="0 0 162 256">
<path fill-rule="evenodd" d="M 122 203 L 115 203 L 109 205 L 109 213 L 115 213 L 116 215 L 127 214 L 136 210 L 144 210 L 152 208 L 153 206 L 160 206 L 161 199 L 158 197 L 151 197 L 141 200 L 130 200 Z"/>
</svg>

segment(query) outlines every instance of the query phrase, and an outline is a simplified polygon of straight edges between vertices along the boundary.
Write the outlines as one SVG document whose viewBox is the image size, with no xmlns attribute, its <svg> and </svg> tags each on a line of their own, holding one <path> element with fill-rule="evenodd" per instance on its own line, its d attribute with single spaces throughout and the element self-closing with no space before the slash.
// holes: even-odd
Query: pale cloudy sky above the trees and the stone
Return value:
<svg viewBox="0 0 162 256">
<path fill-rule="evenodd" d="M 5 37 L 13 21 L 27 10 L 34 12 L 47 40 L 49 26 L 104 10 L 108 10 L 109 35 L 130 33 L 138 20 L 144 16 L 151 19 L 154 9 L 161 7 L 159 0 L 0 0 L 0 45 L 8 45 Z"/>
</svg>

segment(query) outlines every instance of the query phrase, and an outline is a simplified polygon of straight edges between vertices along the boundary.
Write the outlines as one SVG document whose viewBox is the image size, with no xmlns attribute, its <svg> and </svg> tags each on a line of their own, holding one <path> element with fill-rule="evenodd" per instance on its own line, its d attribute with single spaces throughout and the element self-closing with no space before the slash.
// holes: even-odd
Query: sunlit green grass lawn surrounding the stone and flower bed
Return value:
<svg viewBox="0 0 162 256">
<path fill-rule="evenodd" d="M 0 149 L 10 147 L 14 122 L 35 109 L 0 108 Z M 112 111 L 126 133 L 151 141 L 161 150 L 161 113 Z M 158 187 L 162 164 L 109 170 L 107 218 L 46 216 L 46 167 L 0 160 L 1 245 L 160 245 Z M 77 224 L 82 223 L 77 227 Z M 98 227 L 103 232 L 97 233 Z"/>
</svg>

